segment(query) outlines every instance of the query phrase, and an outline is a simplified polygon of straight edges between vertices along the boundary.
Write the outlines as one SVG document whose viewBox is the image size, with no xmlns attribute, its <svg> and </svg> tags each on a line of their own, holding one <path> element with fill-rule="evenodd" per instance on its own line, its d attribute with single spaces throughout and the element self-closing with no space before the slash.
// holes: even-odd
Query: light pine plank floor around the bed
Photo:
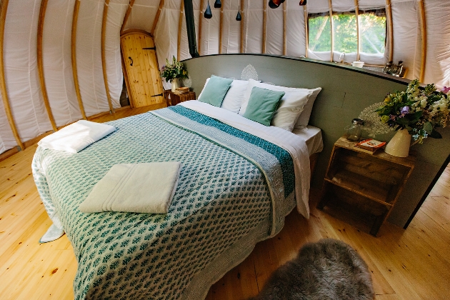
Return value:
<svg viewBox="0 0 450 300">
<path fill-rule="evenodd" d="M 100 121 L 144 112 L 121 110 Z M 31 159 L 36 145 L 0 161 L 0 299 L 73 299 L 76 260 L 66 236 L 39 244 L 51 224 L 34 185 Z M 332 237 L 356 249 L 369 265 L 376 299 L 450 299 L 450 168 L 406 231 L 385 224 L 375 238 L 315 209 L 296 211 L 273 239 L 211 287 L 207 299 L 246 299 L 258 294 L 272 271 L 293 259 L 303 244 Z"/>
</svg>

